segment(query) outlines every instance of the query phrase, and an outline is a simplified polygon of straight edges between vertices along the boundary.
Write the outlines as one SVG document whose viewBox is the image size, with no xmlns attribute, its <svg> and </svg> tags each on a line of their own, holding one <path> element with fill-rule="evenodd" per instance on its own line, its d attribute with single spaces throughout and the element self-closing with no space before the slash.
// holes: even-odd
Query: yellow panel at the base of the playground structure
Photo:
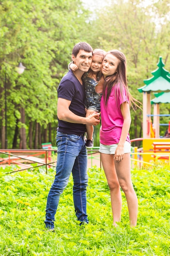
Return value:
<svg viewBox="0 0 170 256">
<path fill-rule="evenodd" d="M 147 139 L 143 139 L 143 152 L 144 153 L 151 153 L 151 154 L 144 154 L 143 155 L 143 160 L 144 162 L 150 162 L 154 160 L 154 146 L 153 143 L 156 142 L 163 142 L 166 144 L 166 142 L 170 143 L 170 138 L 147 138 Z M 156 150 L 158 153 L 158 150 Z M 160 153 L 163 155 L 166 155 L 166 152 L 169 154 L 170 150 L 167 149 L 163 149 L 163 148 L 159 148 Z"/>
</svg>

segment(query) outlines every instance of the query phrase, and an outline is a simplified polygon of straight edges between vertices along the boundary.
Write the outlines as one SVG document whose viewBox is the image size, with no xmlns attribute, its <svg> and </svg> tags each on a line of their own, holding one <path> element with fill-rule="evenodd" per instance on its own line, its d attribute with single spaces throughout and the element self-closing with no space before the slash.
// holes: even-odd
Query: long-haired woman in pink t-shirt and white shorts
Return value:
<svg viewBox="0 0 170 256">
<path fill-rule="evenodd" d="M 118 50 L 106 53 L 102 63 L 104 90 L 101 99 L 100 153 L 110 189 L 113 225 L 121 220 L 121 189 L 129 211 L 130 226 L 137 225 L 138 200 L 130 177 L 130 95 L 126 79 L 126 57 Z"/>
</svg>

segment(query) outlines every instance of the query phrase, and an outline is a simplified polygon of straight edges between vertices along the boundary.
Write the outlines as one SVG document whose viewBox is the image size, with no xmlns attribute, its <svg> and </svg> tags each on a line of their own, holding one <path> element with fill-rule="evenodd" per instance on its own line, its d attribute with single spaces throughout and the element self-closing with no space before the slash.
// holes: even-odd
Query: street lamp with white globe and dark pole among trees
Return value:
<svg viewBox="0 0 170 256">
<path fill-rule="evenodd" d="M 26 67 L 22 65 L 22 62 L 19 63 L 18 67 L 15 67 L 15 70 L 18 74 L 22 74 Z M 7 66 L 5 66 L 5 149 L 8 147 L 8 139 L 7 139 Z"/>
</svg>

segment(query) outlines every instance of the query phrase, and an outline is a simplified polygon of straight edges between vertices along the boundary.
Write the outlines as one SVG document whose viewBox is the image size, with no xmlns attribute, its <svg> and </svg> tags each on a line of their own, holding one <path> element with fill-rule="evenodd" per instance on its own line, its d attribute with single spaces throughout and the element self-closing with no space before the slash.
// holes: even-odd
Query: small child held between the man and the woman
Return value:
<svg viewBox="0 0 170 256">
<path fill-rule="evenodd" d="M 91 67 L 88 72 L 84 73 L 82 80 L 85 87 L 85 107 L 86 117 L 94 112 L 100 112 L 100 101 L 103 92 L 104 78 L 101 75 L 101 66 L 106 52 L 102 49 L 93 51 Z M 68 64 L 68 69 L 75 71 L 77 65 Z M 86 148 L 93 148 L 93 126 L 86 125 L 87 140 Z"/>
</svg>

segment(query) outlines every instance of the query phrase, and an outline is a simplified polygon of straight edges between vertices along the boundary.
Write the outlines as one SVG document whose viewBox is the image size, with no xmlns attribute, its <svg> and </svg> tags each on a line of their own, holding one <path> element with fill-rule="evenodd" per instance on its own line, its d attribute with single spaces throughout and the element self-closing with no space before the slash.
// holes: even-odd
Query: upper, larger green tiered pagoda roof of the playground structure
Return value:
<svg viewBox="0 0 170 256">
<path fill-rule="evenodd" d="M 138 88 L 139 92 L 170 92 L 170 73 L 164 68 L 162 57 L 159 57 L 158 68 L 152 71 L 152 77 L 145 79 L 145 85 Z"/>
</svg>

